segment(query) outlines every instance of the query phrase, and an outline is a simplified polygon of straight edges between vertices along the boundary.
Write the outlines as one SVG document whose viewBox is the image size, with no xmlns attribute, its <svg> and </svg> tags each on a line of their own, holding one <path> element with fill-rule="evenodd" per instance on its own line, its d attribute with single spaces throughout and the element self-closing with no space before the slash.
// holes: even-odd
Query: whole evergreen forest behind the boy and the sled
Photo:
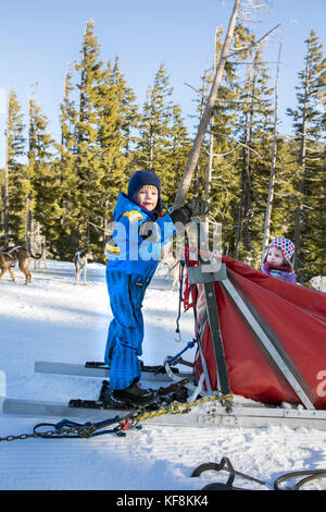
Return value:
<svg viewBox="0 0 326 512">
<path fill-rule="evenodd" d="M 187 193 L 187 199 L 209 198 L 211 219 L 222 223 L 223 254 L 254 268 L 272 237 L 292 240 L 301 283 L 326 275 L 326 59 L 314 31 L 305 37 L 297 106 L 287 110 L 292 134 L 281 135 L 278 78 L 272 81 L 255 34 L 236 26 L 235 44 L 247 50 L 226 63 Z M 222 38 L 218 28 L 215 62 Z M 193 90 L 193 131 L 215 62 L 203 70 L 200 89 Z M 278 71 L 286 72 L 281 66 Z M 36 94 L 23 112 L 15 90 L 9 92 L 5 168 L 0 170 L 1 247 L 28 246 L 28 233 L 38 223 L 52 258 L 72 260 L 87 246 L 103 263 L 105 227 L 116 197 L 139 169 L 159 174 L 164 207 L 173 206 L 193 136 L 174 102 L 164 63 L 158 63 L 145 103 L 138 105 L 118 57 L 110 61 L 101 54 L 90 20 L 79 60 L 64 77 L 60 139 L 53 139 L 48 124 Z"/>
</svg>

